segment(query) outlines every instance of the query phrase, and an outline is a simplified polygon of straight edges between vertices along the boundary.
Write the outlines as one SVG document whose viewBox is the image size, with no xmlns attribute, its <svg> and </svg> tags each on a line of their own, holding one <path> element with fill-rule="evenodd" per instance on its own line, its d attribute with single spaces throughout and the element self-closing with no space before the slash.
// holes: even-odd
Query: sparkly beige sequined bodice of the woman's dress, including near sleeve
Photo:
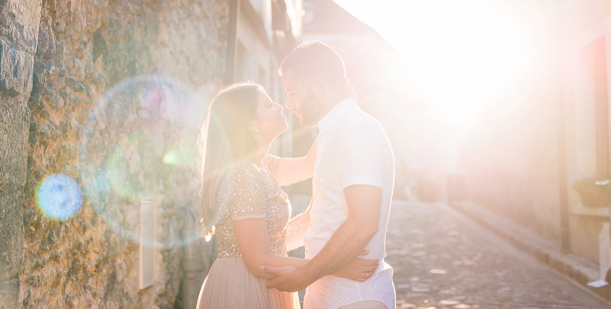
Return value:
<svg viewBox="0 0 611 309">
<path fill-rule="evenodd" d="M 266 158 L 263 167 L 248 160 L 235 164 L 219 184 L 216 205 L 219 220 L 216 224 L 218 258 L 241 256 L 233 231 L 233 219 L 263 218 L 268 228 L 269 253 L 285 255 L 287 223 L 291 216 L 288 195 L 273 178 L 277 162 Z"/>
</svg>

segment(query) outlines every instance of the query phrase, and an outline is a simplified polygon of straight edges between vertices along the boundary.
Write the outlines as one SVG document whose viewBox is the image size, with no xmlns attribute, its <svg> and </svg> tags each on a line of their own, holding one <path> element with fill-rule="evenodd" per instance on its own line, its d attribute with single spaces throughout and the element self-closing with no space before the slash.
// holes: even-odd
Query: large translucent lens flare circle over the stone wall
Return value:
<svg viewBox="0 0 611 309">
<path fill-rule="evenodd" d="M 166 248 L 199 240 L 196 228 L 185 228 L 166 201 L 192 204 L 176 202 L 180 194 L 172 180 L 190 169 L 197 156 L 196 128 L 207 107 L 202 102 L 209 101 L 200 95 L 171 76 L 155 73 L 125 79 L 95 97 L 80 141 L 82 189 L 93 211 L 121 237 Z M 141 202 L 150 199 L 160 201 L 158 225 L 172 226 L 155 240 L 141 236 L 139 226 Z"/>
</svg>

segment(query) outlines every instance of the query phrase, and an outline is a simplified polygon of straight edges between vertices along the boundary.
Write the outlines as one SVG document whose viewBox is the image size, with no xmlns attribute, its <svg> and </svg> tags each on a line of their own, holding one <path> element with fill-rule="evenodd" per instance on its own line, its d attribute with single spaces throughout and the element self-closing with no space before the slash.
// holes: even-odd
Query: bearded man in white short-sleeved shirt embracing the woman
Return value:
<svg viewBox="0 0 611 309">
<path fill-rule="evenodd" d="M 286 106 L 304 126 L 318 125 L 317 158 L 309 209 L 294 220 L 306 222 L 305 258 L 299 269 L 271 267 L 268 288 L 299 291 L 306 286 L 304 309 L 395 308 L 393 270 L 384 262 L 387 223 L 394 181 L 389 140 L 375 118 L 346 95 L 342 58 L 321 42 L 291 52 L 279 68 Z M 331 272 L 358 256 L 379 259 L 364 281 Z"/>
</svg>

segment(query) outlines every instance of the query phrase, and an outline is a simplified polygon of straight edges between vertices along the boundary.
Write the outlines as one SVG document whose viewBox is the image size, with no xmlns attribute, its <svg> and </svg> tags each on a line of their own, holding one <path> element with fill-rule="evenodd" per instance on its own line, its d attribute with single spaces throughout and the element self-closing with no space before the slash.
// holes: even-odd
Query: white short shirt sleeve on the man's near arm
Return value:
<svg viewBox="0 0 611 309">
<path fill-rule="evenodd" d="M 353 123 L 340 140 L 340 183 L 382 187 L 386 169 L 386 134 L 377 123 Z"/>
</svg>

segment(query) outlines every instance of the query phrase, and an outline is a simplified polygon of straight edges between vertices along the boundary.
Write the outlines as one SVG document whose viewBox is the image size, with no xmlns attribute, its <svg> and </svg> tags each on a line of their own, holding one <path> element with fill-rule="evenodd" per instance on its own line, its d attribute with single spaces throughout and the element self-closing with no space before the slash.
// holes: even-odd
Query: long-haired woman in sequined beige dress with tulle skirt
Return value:
<svg viewBox="0 0 611 309">
<path fill-rule="evenodd" d="M 307 263 L 287 256 L 287 244 L 302 245 L 307 225 L 300 222 L 307 213 L 288 223 L 290 203 L 280 186 L 312 177 L 316 144 L 302 158 L 267 155 L 288 127 L 282 111 L 255 82 L 228 85 L 210 104 L 200 143 L 205 146 L 202 224 L 207 241 L 216 231 L 219 250 L 197 308 L 300 308 L 297 293 L 266 288 L 269 275 L 260 271 L 262 264 Z M 375 260 L 354 258 L 333 275 L 362 281 L 363 272 L 377 266 Z"/>
</svg>

